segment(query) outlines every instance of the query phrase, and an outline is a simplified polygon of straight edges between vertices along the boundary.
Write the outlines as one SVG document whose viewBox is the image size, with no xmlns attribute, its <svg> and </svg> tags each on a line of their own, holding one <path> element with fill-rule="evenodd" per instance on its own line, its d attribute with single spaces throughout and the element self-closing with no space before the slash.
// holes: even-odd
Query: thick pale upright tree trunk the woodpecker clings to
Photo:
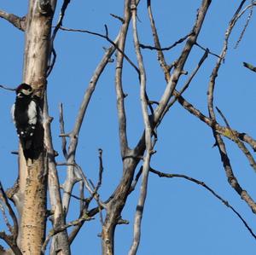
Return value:
<svg viewBox="0 0 256 255">
<path fill-rule="evenodd" d="M 55 1 L 31 0 L 26 16 L 26 44 L 23 81 L 38 90 L 41 107 L 44 101 L 49 42 Z M 36 159 L 24 159 L 20 148 L 20 251 L 40 254 L 45 236 L 47 171 L 44 154 L 44 129 L 39 126 L 35 136 Z"/>
</svg>

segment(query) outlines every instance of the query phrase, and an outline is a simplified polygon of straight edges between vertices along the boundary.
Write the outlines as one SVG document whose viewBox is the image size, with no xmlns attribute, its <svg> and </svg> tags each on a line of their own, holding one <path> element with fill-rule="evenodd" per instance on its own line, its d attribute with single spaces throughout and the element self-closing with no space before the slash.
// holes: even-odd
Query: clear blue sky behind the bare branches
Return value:
<svg viewBox="0 0 256 255">
<path fill-rule="evenodd" d="M 214 0 L 207 13 L 198 43 L 220 54 L 224 33 L 230 19 L 241 1 Z M 249 4 L 251 1 L 247 1 Z M 163 47 L 169 46 L 188 34 L 194 24 L 196 9 L 201 0 L 170 1 L 152 0 L 156 26 Z M 58 4 L 57 12 L 60 10 Z M 26 14 L 27 1 L 2 0 L 0 9 L 23 16 Z M 86 29 L 104 33 L 108 25 L 110 38 L 119 31 L 119 20 L 110 14 L 123 14 L 123 1 L 71 1 L 63 26 Z M 247 13 L 248 14 L 248 13 Z M 227 58 L 218 73 L 215 105 L 225 114 L 230 125 L 241 132 L 256 137 L 255 96 L 256 74 L 242 67 L 246 61 L 256 65 L 255 61 L 255 19 L 252 18 L 247 31 L 238 47 L 234 49 L 247 14 L 238 22 L 230 38 Z M 138 9 L 138 28 L 142 43 L 152 44 L 148 23 L 146 1 L 142 0 Z M 0 20 L 0 84 L 15 87 L 22 81 L 22 59 L 24 35 L 7 21 Z M 84 90 L 90 82 L 92 72 L 104 53 L 103 47 L 109 43 L 102 38 L 88 34 L 59 32 L 55 40 L 57 60 L 55 69 L 49 77 L 49 112 L 55 119 L 52 131 L 55 149 L 61 154 L 61 140 L 58 137 L 58 105 L 64 104 L 66 130 L 73 127 L 74 119 L 82 101 Z M 168 63 L 177 58 L 183 45 L 166 53 Z M 131 31 L 127 41 L 127 55 L 136 62 L 133 51 Z M 203 55 L 195 48 L 185 69 L 191 72 Z M 160 70 L 154 51 L 143 49 L 143 58 L 147 68 L 148 96 L 159 100 L 166 83 Z M 114 56 L 113 56 L 114 59 Z M 192 82 L 184 97 L 202 113 L 207 114 L 207 85 L 217 58 L 210 55 L 201 71 Z M 77 162 L 92 180 L 96 181 L 98 170 L 97 149 L 103 150 L 104 178 L 100 194 L 102 200 L 108 198 L 121 176 L 119 157 L 118 123 L 114 94 L 114 63 L 110 63 L 97 85 L 84 125 L 79 136 Z M 182 78 L 184 81 L 185 78 Z M 180 83 L 179 87 L 183 84 Z M 128 136 L 130 146 L 134 146 L 143 132 L 143 120 L 139 101 L 137 73 L 125 63 L 124 90 L 126 99 Z M 0 90 L 0 180 L 8 188 L 17 177 L 17 159 L 10 154 L 17 149 L 18 139 L 11 122 L 9 109 L 15 100 L 15 94 Z M 224 125 L 218 116 L 218 121 Z M 172 107 L 159 128 L 159 140 L 155 147 L 151 165 L 159 171 L 183 173 L 200 179 L 213 188 L 246 219 L 256 232 L 255 215 L 238 197 L 228 184 L 217 148 L 212 148 L 214 139 L 212 130 L 199 119 L 186 112 L 180 105 Z M 232 142 L 224 139 L 230 154 L 231 164 L 236 177 L 251 196 L 256 199 L 256 176 L 247 159 Z M 63 162 L 61 155 L 58 162 Z M 65 177 L 65 168 L 59 170 L 61 181 Z M 139 183 L 140 184 L 140 183 Z M 131 194 L 122 213 L 130 221 L 129 225 L 120 225 L 116 229 L 116 254 L 127 254 L 132 238 L 133 215 L 137 206 L 139 187 Z M 78 194 L 78 188 L 73 191 Z M 69 220 L 78 217 L 78 205 L 73 203 Z M 0 223 L 3 227 L 3 221 Z M 142 240 L 139 255 L 215 255 L 215 254 L 254 254 L 256 241 L 247 229 L 226 206 L 195 183 L 181 179 L 164 179 L 150 175 L 148 198 L 143 214 Z M 101 232 L 99 217 L 84 224 L 79 237 L 73 242 L 75 255 L 96 255 L 101 253 Z M 86 253 L 85 253 L 86 250 Z"/>
</svg>

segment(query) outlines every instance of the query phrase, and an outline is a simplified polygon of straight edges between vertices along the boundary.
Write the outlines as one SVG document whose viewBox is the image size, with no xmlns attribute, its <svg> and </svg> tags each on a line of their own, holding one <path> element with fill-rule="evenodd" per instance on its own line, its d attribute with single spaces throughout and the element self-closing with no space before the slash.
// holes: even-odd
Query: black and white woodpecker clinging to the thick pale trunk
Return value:
<svg viewBox="0 0 256 255">
<path fill-rule="evenodd" d="M 33 139 L 39 120 L 38 111 L 38 101 L 33 95 L 32 86 L 20 84 L 16 89 L 16 100 L 11 113 L 26 160 L 33 159 Z"/>
</svg>

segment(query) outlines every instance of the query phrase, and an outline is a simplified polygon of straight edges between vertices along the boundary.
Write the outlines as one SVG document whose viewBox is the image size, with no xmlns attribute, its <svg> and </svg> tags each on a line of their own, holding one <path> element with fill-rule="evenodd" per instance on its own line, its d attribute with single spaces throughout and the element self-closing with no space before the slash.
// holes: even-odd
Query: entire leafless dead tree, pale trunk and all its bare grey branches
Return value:
<svg viewBox="0 0 256 255">
<path fill-rule="evenodd" d="M 119 32 L 116 38 L 112 39 L 108 33 L 108 26 L 105 27 L 105 33 L 92 32 L 84 29 L 76 29 L 62 26 L 63 19 L 68 8 L 70 0 L 63 0 L 61 12 L 57 23 L 53 26 L 55 15 L 56 0 L 30 0 L 26 16 L 18 17 L 15 14 L 9 14 L 0 10 L 0 17 L 8 20 L 12 25 L 24 32 L 26 38 L 24 49 L 23 65 L 23 82 L 31 84 L 33 90 L 37 92 L 39 98 L 39 107 L 42 111 L 42 123 L 37 130 L 35 142 L 37 144 L 35 159 L 26 160 L 22 148 L 19 149 L 19 177 L 13 188 L 4 190 L 0 186 L 1 208 L 3 217 L 10 234 L 6 231 L 0 232 L 0 238 L 9 246 L 8 249 L 1 247 L 1 254 L 44 254 L 49 245 L 49 254 L 71 254 L 70 246 L 73 240 L 79 234 L 79 230 L 84 223 L 90 221 L 97 215 L 102 223 L 102 254 L 112 255 L 114 253 L 115 229 L 119 224 L 128 223 L 122 218 L 123 209 L 126 206 L 126 200 L 129 195 L 139 188 L 139 197 L 137 201 L 137 210 L 134 214 L 133 238 L 129 255 L 137 254 L 142 232 L 142 219 L 145 201 L 148 191 L 148 176 L 155 174 L 159 177 L 183 178 L 189 182 L 196 183 L 205 188 L 215 198 L 228 206 L 232 212 L 241 220 L 249 233 L 256 239 L 253 230 L 249 227 L 245 219 L 233 206 L 220 197 L 206 183 L 201 182 L 193 177 L 182 174 L 170 174 L 155 170 L 151 166 L 151 158 L 155 154 L 154 146 L 158 139 L 158 128 L 165 118 L 168 111 L 174 104 L 179 104 L 188 113 L 200 119 L 212 129 L 212 135 L 216 141 L 215 146 L 218 148 L 220 159 L 223 162 L 224 171 L 235 192 L 249 206 L 253 213 L 256 213 L 256 204 L 247 190 L 241 187 L 239 180 L 232 170 L 230 158 L 225 148 L 223 137 L 234 142 L 241 152 L 246 156 L 253 170 L 256 170 L 256 163 L 253 153 L 246 147 L 249 146 L 253 151 L 256 150 L 256 141 L 252 136 L 244 132 L 239 132 L 230 126 L 225 118 L 224 113 L 218 107 L 214 106 L 213 95 L 216 84 L 218 71 L 226 58 L 230 34 L 236 26 L 237 20 L 249 11 L 247 24 L 241 32 L 236 46 L 240 43 L 243 34 L 247 28 L 248 22 L 253 13 L 253 7 L 256 5 L 253 1 L 246 6 L 245 0 L 237 6 L 236 12 L 231 17 L 230 23 L 224 32 L 224 45 L 220 54 L 213 53 L 211 49 L 198 43 L 198 37 L 201 34 L 201 27 L 207 19 L 207 14 L 211 7 L 211 0 L 202 0 L 197 10 L 195 21 L 191 26 L 190 32 L 183 38 L 178 39 L 171 46 L 162 47 L 160 38 L 154 21 L 154 14 L 151 8 L 151 1 L 147 1 L 148 20 L 151 27 L 154 45 L 146 45 L 141 42 L 140 30 L 137 26 L 138 15 L 137 9 L 140 8 L 139 0 L 124 0 L 124 14 L 119 17 L 112 14 L 113 18 L 120 21 Z M 52 118 L 49 116 L 47 100 L 47 78 L 52 75 L 55 67 L 56 51 L 55 37 L 58 32 L 79 32 L 90 34 L 97 38 L 103 38 L 109 43 L 108 49 L 105 49 L 102 60 L 98 63 L 84 92 L 84 98 L 79 107 L 77 118 L 74 121 L 73 129 L 66 132 L 63 118 L 63 107 L 60 105 L 60 137 L 61 148 L 65 162 L 56 162 L 53 139 L 51 135 Z M 125 45 L 129 43 L 128 35 L 131 33 L 133 41 L 133 52 L 136 55 L 136 61 L 132 60 L 126 54 Z M 172 64 L 166 57 L 166 51 L 172 50 L 177 45 L 183 45 L 177 59 L 172 60 Z M 195 63 L 195 69 L 188 73 L 185 71 L 185 65 L 190 59 L 192 49 L 195 47 L 202 50 L 201 56 Z M 163 77 L 166 80 L 166 88 L 157 101 L 151 100 L 148 96 L 147 87 L 147 68 L 143 61 L 143 50 L 153 50 L 157 55 L 157 61 L 162 70 Z M 90 99 L 93 96 L 99 78 L 105 72 L 105 67 L 112 62 L 115 54 L 115 73 L 114 85 L 116 93 L 116 106 L 119 124 L 119 153 L 122 161 L 122 176 L 118 185 L 113 189 L 113 193 L 107 200 L 103 201 L 99 190 L 102 188 L 102 149 L 99 149 L 99 170 L 98 181 L 92 183 L 87 173 L 77 162 L 76 153 L 79 148 L 79 135 L 81 126 L 84 122 L 84 116 Z M 203 67 L 207 57 L 211 55 L 216 61 L 215 67 L 208 83 L 207 90 L 207 108 L 208 115 L 202 113 L 183 97 L 183 92 L 189 88 L 197 72 Z M 137 73 L 137 84 L 139 87 L 139 101 L 143 119 L 143 133 L 137 141 L 136 146 L 131 148 L 127 136 L 127 121 L 123 80 L 124 80 L 124 63 Z M 255 67 L 251 64 L 244 63 L 244 66 L 255 72 Z M 181 89 L 183 76 L 188 78 Z M 8 89 L 1 85 L 3 89 Z M 224 125 L 218 123 L 216 113 L 224 121 Z M 141 164 L 139 167 L 138 165 Z M 58 167 L 66 166 L 67 176 L 63 184 L 60 184 Z M 141 178 L 141 185 L 137 187 L 138 180 Z M 73 188 L 79 186 L 79 196 L 73 195 Z M 49 206 L 47 208 L 47 193 L 49 194 Z M 70 209 L 71 200 L 79 201 L 79 217 L 73 221 L 67 222 L 67 216 Z M 18 212 L 15 215 L 11 200 Z M 93 202 L 96 206 L 93 206 Z M 102 213 L 103 212 L 103 213 Z M 9 217 L 7 217 L 7 213 Z M 9 218 L 13 224 L 9 223 Z M 51 227 L 46 231 L 46 223 L 50 221 Z M 67 228 L 72 231 L 67 234 Z"/>
</svg>

